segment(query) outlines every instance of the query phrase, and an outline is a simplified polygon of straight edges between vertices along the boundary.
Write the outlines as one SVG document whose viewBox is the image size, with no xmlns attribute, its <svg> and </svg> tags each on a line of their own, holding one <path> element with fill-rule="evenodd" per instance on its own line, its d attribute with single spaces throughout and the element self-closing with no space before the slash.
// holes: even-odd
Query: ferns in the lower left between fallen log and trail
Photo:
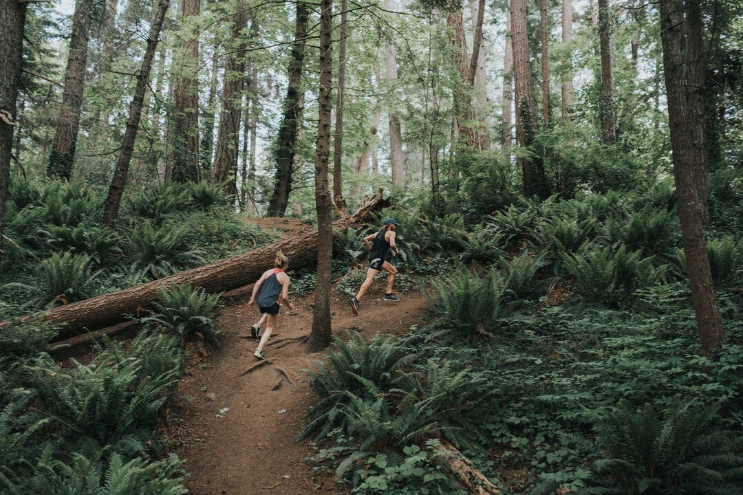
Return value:
<svg viewBox="0 0 743 495">
<path fill-rule="evenodd" d="M 49 355 L 54 327 L 0 327 L 0 493 L 186 494 L 153 430 L 189 356 L 218 344 L 217 298 L 163 289 L 132 342 L 104 337 L 85 364 Z"/>
</svg>

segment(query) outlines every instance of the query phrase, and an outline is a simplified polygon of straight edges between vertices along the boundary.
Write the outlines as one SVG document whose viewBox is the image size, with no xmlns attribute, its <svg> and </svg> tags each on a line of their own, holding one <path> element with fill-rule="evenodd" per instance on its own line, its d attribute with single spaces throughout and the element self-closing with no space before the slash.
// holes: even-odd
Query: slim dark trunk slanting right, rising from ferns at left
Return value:
<svg viewBox="0 0 743 495">
<path fill-rule="evenodd" d="M 160 0 L 158 7 L 152 12 L 152 19 L 149 24 L 149 36 L 147 37 L 147 48 L 142 59 L 142 68 L 137 75 L 137 87 L 134 89 L 134 99 L 129 106 L 129 118 L 126 120 L 126 131 L 121 143 L 121 151 L 116 162 L 114 178 L 111 180 L 111 186 L 108 188 L 108 197 L 106 197 L 106 206 L 103 210 L 104 226 L 111 226 L 119 212 L 121 196 L 126 185 L 126 176 L 129 173 L 129 163 L 132 161 L 132 151 L 134 151 L 134 141 L 137 139 L 139 131 L 140 117 L 142 116 L 142 105 L 144 94 L 149 86 L 149 73 L 152 71 L 152 64 L 155 61 L 155 51 L 158 48 L 158 39 L 160 30 L 163 27 L 163 19 L 168 10 L 170 0 Z"/>
</svg>

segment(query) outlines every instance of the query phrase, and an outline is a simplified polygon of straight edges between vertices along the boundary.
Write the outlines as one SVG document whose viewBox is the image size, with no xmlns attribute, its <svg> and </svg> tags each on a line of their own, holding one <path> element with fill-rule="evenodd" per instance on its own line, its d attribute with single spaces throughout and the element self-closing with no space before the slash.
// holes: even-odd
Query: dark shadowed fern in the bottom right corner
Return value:
<svg viewBox="0 0 743 495">
<path fill-rule="evenodd" d="M 620 487 L 632 495 L 739 493 L 743 437 L 705 435 L 715 414 L 716 407 L 678 401 L 661 414 L 651 404 L 639 410 L 620 404 L 595 425 L 606 459 L 594 462 L 594 471 L 608 478 L 603 488 L 578 493 L 611 493 Z"/>
</svg>

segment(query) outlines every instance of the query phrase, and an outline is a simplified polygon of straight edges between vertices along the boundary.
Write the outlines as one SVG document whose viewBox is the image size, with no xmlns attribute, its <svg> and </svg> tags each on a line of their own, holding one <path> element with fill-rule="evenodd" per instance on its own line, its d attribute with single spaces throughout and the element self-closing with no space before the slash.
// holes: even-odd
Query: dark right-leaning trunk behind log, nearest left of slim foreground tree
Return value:
<svg viewBox="0 0 743 495">
<path fill-rule="evenodd" d="M 305 37 L 307 36 L 307 5 L 296 4 L 296 27 L 289 62 L 289 85 L 284 100 L 284 117 L 279 126 L 276 142 L 276 177 L 273 194 L 268 203 L 269 217 L 283 217 L 289 203 L 293 174 L 294 146 L 302 117 L 302 62 L 305 59 Z"/>
</svg>

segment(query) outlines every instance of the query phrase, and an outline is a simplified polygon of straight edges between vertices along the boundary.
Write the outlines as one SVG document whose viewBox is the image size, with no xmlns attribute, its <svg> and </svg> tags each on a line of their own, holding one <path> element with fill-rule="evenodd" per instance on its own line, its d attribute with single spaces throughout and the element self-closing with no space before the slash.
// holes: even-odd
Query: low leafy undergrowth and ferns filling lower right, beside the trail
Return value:
<svg viewBox="0 0 743 495">
<path fill-rule="evenodd" d="M 301 438 L 358 493 L 398 493 L 400 470 L 411 480 L 400 493 L 457 493 L 427 447 L 439 439 L 506 493 L 707 493 L 692 490 L 699 479 L 716 487 L 708 493 L 739 493 L 743 304 L 721 299 L 728 343 L 708 359 L 683 292 L 638 293 L 632 312 L 574 303 L 512 313 L 488 338 L 441 318 L 401 338 L 337 341 L 313 373 L 319 402 Z M 688 438 L 663 436 L 676 422 Z M 648 430 L 622 433 L 637 423 Z M 627 453 L 651 435 L 654 452 Z M 696 475 L 679 481 L 684 472 Z M 620 479 L 660 488 L 623 491 Z"/>
</svg>

